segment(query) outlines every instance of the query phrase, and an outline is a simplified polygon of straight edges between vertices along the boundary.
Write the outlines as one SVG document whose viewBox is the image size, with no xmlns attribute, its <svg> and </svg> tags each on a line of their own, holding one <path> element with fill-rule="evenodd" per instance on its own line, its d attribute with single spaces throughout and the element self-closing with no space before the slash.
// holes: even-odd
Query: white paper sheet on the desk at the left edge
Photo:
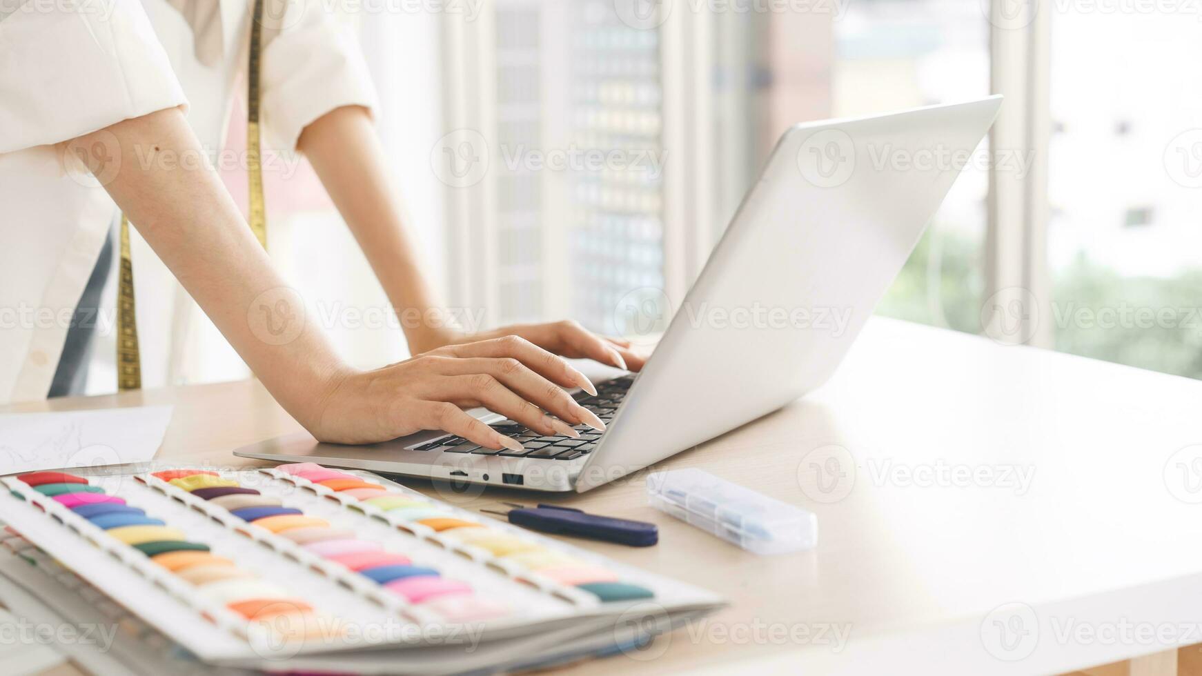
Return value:
<svg viewBox="0 0 1202 676">
<path fill-rule="evenodd" d="M 171 406 L 143 406 L 0 413 L 0 474 L 150 460 L 171 412 Z"/>
</svg>

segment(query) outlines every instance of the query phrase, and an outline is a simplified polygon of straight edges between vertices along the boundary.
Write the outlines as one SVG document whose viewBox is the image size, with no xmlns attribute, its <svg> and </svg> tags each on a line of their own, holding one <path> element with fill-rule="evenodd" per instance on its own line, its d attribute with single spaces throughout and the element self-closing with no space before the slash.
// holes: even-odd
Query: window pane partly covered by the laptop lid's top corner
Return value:
<svg viewBox="0 0 1202 676">
<path fill-rule="evenodd" d="M 989 94 L 989 23 L 977 2 L 852 2 L 833 25 L 834 116 Z M 952 186 L 879 313 L 980 331 L 989 164 L 986 142 Z"/>
</svg>

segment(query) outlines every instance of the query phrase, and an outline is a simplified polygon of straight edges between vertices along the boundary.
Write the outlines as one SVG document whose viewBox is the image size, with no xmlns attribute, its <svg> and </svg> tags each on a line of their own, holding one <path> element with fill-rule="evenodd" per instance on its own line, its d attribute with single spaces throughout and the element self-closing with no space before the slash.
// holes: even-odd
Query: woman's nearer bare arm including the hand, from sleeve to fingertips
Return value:
<svg viewBox="0 0 1202 676">
<path fill-rule="evenodd" d="M 356 133 L 346 139 L 362 140 Z M 178 109 L 126 120 L 67 145 L 66 152 L 101 178 L 276 401 L 319 439 L 374 443 L 445 430 L 492 449 L 522 449 L 460 408 L 476 406 L 542 435 L 579 436 L 572 425 L 605 429 L 561 389 L 589 388 L 588 378 L 517 336 L 450 345 L 373 371 L 345 366 L 319 327 L 305 321 L 300 295 L 272 268 Z M 323 166 L 329 169 L 329 163 Z M 382 168 L 353 175 L 367 181 L 375 180 L 364 178 L 375 173 L 382 174 Z M 338 192 L 341 199 L 358 195 L 346 185 Z M 356 220 L 391 217 L 371 211 L 353 213 Z M 401 241 L 383 232 L 371 237 L 393 246 Z M 411 257 L 407 244 L 403 251 Z M 405 276 L 421 285 L 416 265 L 400 279 Z M 406 298 L 422 298 L 423 292 L 410 293 Z"/>
</svg>

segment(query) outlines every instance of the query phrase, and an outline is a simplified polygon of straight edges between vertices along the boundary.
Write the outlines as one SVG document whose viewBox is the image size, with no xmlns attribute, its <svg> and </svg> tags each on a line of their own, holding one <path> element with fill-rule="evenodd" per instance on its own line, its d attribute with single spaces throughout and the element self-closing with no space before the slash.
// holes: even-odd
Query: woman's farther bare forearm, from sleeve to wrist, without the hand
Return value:
<svg viewBox="0 0 1202 676">
<path fill-rule="evenodd" d="M 394 310 L 423 318 L 401 322 L 411 351 L 441 345 L 439 336 L 446 327 L 424 318 L 444 309 L 423 274 L 400 193 L 367 110 L 347 106 L 322 115 L 304 128 L 298 148 L 346 220 Z"/>
</svg>

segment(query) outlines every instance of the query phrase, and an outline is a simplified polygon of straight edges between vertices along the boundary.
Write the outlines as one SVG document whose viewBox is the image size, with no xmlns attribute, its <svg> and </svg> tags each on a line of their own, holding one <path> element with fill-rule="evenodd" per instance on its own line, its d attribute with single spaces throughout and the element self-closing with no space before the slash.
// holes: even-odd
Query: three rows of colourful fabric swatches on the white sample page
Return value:
<svg viewBox="0 0 1202 676">
<path fill-rule="evenodd" d="M 453 543 L 450 546 L 469 548 L 465 552 L 474 548 L 477 554 L 472 556 L 487 552 L 487 556 L 506 563 L 508 570 L 516 567 L 529 572 L 530 581 L 541 580 L 540 585 L 575 587 L 591 593 L 602 603 L 654 596 L 639 585 L 623 581 L 603 566 L 522 537 L 512 528 L 490 526 L 488 519 L 464 516 L 462 512 L 440 507 L 421 496 L 313 462 L 281 465 L 278 469 L 280 474 L 276 477 L 282 475 L 293 484 L 319 485 L 332 491 L 338 496 L 335 504 L 362 504 L 371 508 L 363 512 L 377 518 L 382 512 L 391 524 L 403 524 L 409 530 L 427 528 L 427 533 L 436 533 L 436 537 L 445 538 L 445 543 Z M 174 489 L 185 491 L 210 509 L 225 510 L 257 526 L 261 531 L 254 536 L 256 538 L 279 538 L 276 542 L 284 543 L 282 546 L 294 546 L 298 554 L 308 552 L 337 563 L 345 568 L 345 574 L 361 575 L 381 590 L 406 603 L 422 605 L 448 622 L 476 622 L 504 617 L 513 611 L 506 599 L 482 597 L 470 582 L 444 576 L 439 566 L 423 564 L 419 556 L 410 556 L 412 552 L 389 551 L 394 544 L 386 546 L 363 537 L 358 528 L 346 527 L 349 522 L 332 525 L 333 518 L 304 514 L 303 509 L 290 504 L 286 495 L 282 498 L 264 495 L 203 469 L 166 469 L 150 477 L 163 481 L 160 490 L 165 492 Z M 141 551 L 150 562 L 195 587 L 201 599 L 224 605 L 249 621 L 267 621 L 286 614 L 300 618 L 304 627 L 316 627 L 314 618 L 319 611 L 304 600 L 304 590 L 284 588 L 239 567 L 237 551 L 213 552 L 206 543 L 190 542 L 180 528 L 147 514 L 137 505 L 126 504 L 123 497 L 105 492 L 102 486 L 91 484 L 87 478 L 63 472 L 31 472 L 18 479 L 36 493 L 60 503 L 100 528 L 114 542 Z M 362 514 L 358 518 L 363 518 Z"/>
</svg>

